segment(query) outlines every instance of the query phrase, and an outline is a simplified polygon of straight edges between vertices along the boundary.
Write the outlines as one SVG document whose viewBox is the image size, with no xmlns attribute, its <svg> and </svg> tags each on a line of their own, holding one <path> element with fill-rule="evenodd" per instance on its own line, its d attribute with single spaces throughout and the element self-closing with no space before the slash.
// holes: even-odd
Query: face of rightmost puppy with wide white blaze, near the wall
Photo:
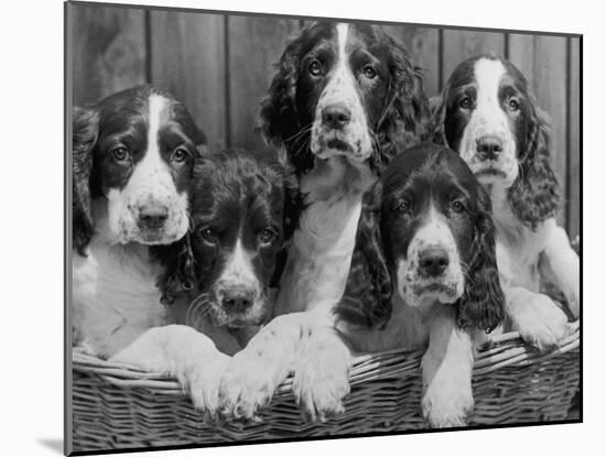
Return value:
<svg viewBox="0 0 606 457">
<path fill-rule="evenodd" d="M 461 64 L 448 80 L 444 134 L 478 181 L 509 188 L 519 174 L 531 118 L 527 83 L 497 57 Z"/>
</svg>

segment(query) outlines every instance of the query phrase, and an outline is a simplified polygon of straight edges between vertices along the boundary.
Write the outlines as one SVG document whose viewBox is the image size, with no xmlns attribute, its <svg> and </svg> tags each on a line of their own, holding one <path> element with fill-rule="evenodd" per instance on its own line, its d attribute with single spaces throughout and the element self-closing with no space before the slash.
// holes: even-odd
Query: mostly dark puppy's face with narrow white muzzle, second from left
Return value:
<svg viewBox="0 0 606 457">
<path fill-rule="evenodd" d="M 259 325 L 283 246 L 283 177 L 227 153 L 196 166 L 193 255 L 204 309 L 218 326 Z"/>
</svg>

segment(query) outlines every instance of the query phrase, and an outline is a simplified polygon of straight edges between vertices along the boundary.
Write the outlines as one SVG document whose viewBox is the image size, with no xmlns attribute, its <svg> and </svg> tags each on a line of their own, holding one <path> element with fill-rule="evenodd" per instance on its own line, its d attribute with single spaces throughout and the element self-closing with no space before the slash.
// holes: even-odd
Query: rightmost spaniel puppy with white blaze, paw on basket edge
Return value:
<svg viewBox="0 0 606 457">
<path fill-rule="evenodd" d="M 458 65 L 436 105 L 435 140 L 458 151 L 490 194 L 511 327 L 539 348 L 553 346 L 567 317 L 541 284 L 561 290 L 577 318 L 580 265 L 554 218 L 547 122 L 523 75 L 494 55 Z"/>
</svg>

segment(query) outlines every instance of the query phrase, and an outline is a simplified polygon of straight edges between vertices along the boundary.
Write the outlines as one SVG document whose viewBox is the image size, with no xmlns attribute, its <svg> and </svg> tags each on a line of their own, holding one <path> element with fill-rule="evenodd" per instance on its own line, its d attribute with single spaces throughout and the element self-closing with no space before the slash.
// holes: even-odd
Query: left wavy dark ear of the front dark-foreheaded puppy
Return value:
<svg viewBox="0 0 606 457">
<path fill-rule="evenodd" d="M 383 327 L 391 316 L 391 274 L 381 239 L 382 183 L 364 196 L 345 293 L 335 313 L 350 324 Z"/>
</svg>

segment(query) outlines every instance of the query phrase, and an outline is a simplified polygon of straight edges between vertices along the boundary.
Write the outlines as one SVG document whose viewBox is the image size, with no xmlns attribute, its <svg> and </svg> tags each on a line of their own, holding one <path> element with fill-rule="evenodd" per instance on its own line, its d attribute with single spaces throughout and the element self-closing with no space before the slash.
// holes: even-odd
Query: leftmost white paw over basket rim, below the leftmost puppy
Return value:
<svg viewBox="0 0 606 457">
<path fill-rule="evenodd" d="M 218 356 L 218 355 L 217 355 Z M 190 367 L 177 376 L 184 390 L 192 399 L 197 411 L 215 417 L 219 407 L 219 385 L 225 373 L 229 357 L 220 355 L 215 360 L 205 360 Z"/>
</svg>

